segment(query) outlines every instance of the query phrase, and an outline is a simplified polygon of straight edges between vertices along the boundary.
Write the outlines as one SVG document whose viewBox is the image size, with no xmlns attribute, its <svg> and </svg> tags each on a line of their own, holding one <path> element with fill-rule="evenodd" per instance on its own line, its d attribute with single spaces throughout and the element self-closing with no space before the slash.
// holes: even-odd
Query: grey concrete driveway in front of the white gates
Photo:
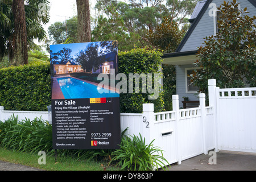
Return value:
<svg viewBox="0 0 256 182">
<path fill-rule="evenodd" d="M 256 154 L 216 153 L 217 164 L 208 164 L 212 155 L 198 155 L 172 164 L 170 171 L 256 171 Z M 210 162 L 213 160 L 210 160 Z"/>
</svg>

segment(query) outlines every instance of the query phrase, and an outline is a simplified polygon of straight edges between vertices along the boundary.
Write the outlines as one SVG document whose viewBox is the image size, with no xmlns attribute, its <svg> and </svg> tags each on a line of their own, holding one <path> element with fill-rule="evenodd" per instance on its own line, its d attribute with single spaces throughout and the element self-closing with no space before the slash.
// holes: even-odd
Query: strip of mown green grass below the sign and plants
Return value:
<svg viewBox="0 0 256 182">
<path fill-rule="evenodd" d="M 77 160 L 71 157 L 46 156 L 46 165 L 38 164 L 39 155 L 26 152 L 11 151 L 0 147 L 0 160 L 10 163 L 22 164 L 46 171 L 119 171 L 120 168 L 108 166 L 108 163 L 96 161 L 95 159 Z"/>
</svg>

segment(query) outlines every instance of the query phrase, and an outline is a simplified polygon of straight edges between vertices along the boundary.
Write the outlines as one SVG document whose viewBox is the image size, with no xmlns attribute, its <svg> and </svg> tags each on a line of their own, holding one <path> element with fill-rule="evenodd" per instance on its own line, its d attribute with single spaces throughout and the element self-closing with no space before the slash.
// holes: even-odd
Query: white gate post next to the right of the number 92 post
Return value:
<svg viewBox="0 0 256 182">
<path fill-rule="evenodd" d="M 179 95 L 172 95 L 172 110 L 175 111 L 175 138 L 176 138 L 176 148 L 177 148 L 177 159 L 178 164 L 181 164 L 181 148 L 180 148 L 180 131 L 179 131 L 179 121 L 180 121 L 180 111 L 179 111 Z"/>
</svg>

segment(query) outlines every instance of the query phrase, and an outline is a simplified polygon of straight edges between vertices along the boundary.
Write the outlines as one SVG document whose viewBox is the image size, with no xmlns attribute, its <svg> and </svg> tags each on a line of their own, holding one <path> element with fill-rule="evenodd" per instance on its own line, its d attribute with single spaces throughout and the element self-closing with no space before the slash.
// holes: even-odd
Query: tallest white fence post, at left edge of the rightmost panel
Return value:
<svg viewBox="0 0 256 182">
<path fill-rule="evenodd" d="M 214 121 L 214 145 L 215 152 L 218 152 L 218 143 L 217 143 L 217 93 L 216 93 L 216 80 L 208 80 L 208 94 L 209 94 L 209 106 L 213 107 L 213 121 Z"/>
</svg>

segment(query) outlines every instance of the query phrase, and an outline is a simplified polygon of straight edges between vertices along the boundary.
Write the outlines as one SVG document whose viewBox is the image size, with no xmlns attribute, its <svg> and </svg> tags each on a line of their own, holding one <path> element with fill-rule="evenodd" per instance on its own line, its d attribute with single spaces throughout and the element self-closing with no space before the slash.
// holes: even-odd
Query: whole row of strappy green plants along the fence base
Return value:
<svg viewBox="0 0 256 182">
<path fill-rule="evenodd" d="M 163 163 L 167 162 L 163 151 L 152 144 L 154 140 L 146 144 L 141 135 L 129 138 L 125 135 L 125 131 L 122 132 L 119 150 L 57 150 L 57 154 L 76 160 L 93 158 L 103 160 L 124 170 L 146 171 L 154 168 L 168 170 Z M 48 156 L 54 155 L 52 125 L 41 118 L 18 121 L 18 117 L 13 115 L 5 122 L 0 121 L 0 147 L 31 154 L 44 151 Z"/>
</svg>

